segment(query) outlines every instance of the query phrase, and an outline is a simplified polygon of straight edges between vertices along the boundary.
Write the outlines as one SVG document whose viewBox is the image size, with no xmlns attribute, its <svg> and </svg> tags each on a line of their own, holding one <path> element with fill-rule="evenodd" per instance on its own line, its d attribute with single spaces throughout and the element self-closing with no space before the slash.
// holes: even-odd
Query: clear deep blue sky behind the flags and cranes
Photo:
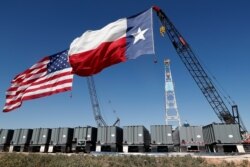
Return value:
<svg viewBox="0 0 250 167">
<path fill-rule="evenodd" d="M 41 58 L 68 48 L 86 30 L 100 29 L 119 18 L 158 5 L 202 60 L 203 65 L 238 104 L 249 129 L 250 2 L 247 0 L 9 0 L 0 2 L 0 107 L 18 73 Z M 95 76 L 106 122 L 121 126 L 164 124 L 164 64 L 171 59 L 177 105 L 191 125 L 219 122 L 154 14 L 154 55 L 111 66 Z M 72 97 L 71 97 L 72 94 Z M 111 101 L 111 103 L 110 103 Z M 84 77 L 74 77 L 72 92 L 25 101 L 0 113 L 0 128 L 96 126 Z"/>
</svg>

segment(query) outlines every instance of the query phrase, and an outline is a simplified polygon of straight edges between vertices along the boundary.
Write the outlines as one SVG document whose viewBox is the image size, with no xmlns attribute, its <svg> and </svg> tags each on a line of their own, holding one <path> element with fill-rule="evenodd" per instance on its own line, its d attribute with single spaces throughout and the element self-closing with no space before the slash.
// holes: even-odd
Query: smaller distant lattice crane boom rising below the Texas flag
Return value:
<svg viewBox="0 0 250 167">
<path fill-rule="evenodd" d="M 101 114 L 100 105 L 99 105 L 99 101 L 98 101 L 98 97 L 97 97 L 97 93 L 96 93 L 96 89 L 95 89 L 95 82 L 94 82 L 93 76 L 87 77 L 87 84 L 88 84 L 88 88 L 89 88 L 89 95 L 90 95 L 90 100 L 91 100 L 92 109 L 93 109 L 96 124 L 97 124 L 97 126 L 107 126 L 107 124 L 104 121 L 102 114 Z"/>
</svg>

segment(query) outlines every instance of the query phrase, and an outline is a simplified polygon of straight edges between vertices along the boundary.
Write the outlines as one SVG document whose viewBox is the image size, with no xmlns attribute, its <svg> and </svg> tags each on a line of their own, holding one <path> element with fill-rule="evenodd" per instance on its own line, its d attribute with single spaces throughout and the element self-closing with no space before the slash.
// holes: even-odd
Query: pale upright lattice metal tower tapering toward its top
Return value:
<svg viewBox="0 0 250 167">
<path fill-rule="evenodd" d="M 181 126 L 181 119 L 177 108 L 174 84 L 170 70 L 170 60 L 169 59 L 164 60 L 164 65 L 165 65 L 166 125 Z"/>
</svg>

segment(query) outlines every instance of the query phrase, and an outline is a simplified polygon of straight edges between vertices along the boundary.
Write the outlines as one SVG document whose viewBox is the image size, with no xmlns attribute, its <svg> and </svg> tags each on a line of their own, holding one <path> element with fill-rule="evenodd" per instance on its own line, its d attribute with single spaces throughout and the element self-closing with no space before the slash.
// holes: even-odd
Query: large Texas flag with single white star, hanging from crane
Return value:
<svg viewBox="0 0 250 167">
<path fill-rule="evenodd" d="M 79 76 L 96 74 L 144 54 L 154 54 L 152 8 L 100 30 L 84 32 L 71 43 L 68 52 L 73 73 Z"/>
</svg>

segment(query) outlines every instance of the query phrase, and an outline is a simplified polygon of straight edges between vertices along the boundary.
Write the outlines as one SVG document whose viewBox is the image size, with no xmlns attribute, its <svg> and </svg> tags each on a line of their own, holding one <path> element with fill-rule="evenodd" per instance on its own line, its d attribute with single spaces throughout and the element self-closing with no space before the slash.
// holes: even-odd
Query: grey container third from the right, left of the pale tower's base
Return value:
<svg viewBox="0 0 250 167">
<path fill-rule="evenodd" d="M 172 126 L 151 125 L 151 144 L 171 145 L 173 144 Z"/>
</svg>

